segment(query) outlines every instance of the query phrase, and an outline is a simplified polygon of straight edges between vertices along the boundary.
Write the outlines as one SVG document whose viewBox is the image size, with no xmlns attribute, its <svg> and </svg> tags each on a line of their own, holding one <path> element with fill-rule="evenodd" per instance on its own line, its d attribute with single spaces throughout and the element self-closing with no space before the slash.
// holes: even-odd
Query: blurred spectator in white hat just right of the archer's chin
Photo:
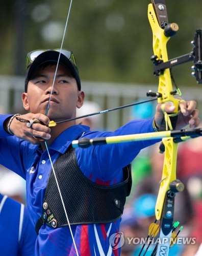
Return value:
<svg viewBox="0 0 202 256">
<path fill-rule="evenodd" d="M 84 101 L 83 106 L 77 109 L 77 117 L 92 114 L 95 112 L 100 112 L 100 106 L 94 101 Z M 84 117 L 77 120 L 77 123 L 82 123 L 90 127 L 90 130 L 100 130 L 102 128 L 102 117 L 101 114 Z"/>
</svg>

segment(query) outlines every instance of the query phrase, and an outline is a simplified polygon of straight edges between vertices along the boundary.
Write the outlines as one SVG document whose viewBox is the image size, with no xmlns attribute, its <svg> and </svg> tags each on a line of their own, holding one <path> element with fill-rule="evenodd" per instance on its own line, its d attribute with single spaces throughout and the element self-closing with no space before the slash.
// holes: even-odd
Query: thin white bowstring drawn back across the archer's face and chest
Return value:
<svg viewBox="0 0 202 256">
<path fill-rule="evenodd" d="M 47 110 L 46 110 L 46 114 L 45 114 L 46 116 L 47 116 L 48 111 L 49 111 L 50 100 L 51 100 L 52 94 L 53 94 L 54 84 L 55 84 L 56 75 L 57 75 L 58 66 L 59 66 L 59 61 L 60 61 L 60 55 L 61 55 L 61 51 L 62 51 L 62 47 L 63 47 L 65 33 L 66 33 L 66 30 L 67 30 L 67 24 L 68 24 L 69 14 L 70 14 L 70 10 L 71 10 L 71 4 L 72 4 L 72 0 L 71 0 L 70 5 L 69 5 L 69 11 L 68 11 L 68 14 L 67 14 L 67 20 L 66 20 L 66 24 L 65 24 L 65 29 L 64 29 L 64 33 L 63 33 L 61 47 L 60 47 L 60 52 L 59 52 L 59 57 L 58 57 L 58 61 L 57 61 L 56 71 L 55 71 L 55 75 L 54 75 L 52 90 L 50 92 L 50 97 L 49 97 L 49 101 L 48 101 L 48 105 L 47 105 Z M 67 219 L 67 223 L 68 223 L 68 226 L 69 226 L 69 230 L 70 230 L 70 233 L 71 233 L 71 237 L 72 237 L 72 241 L 73 241 L 73 244 L 74 244 L 74 247 L 75 247 L 75 251 L 77 253 L 77 256 L 79 256 L 79 253 L 78 253 L 78 250 L 77 250 L 77 246 L 75 245 L 75 240 L 74 240 L 74 237 L 73 237 L 71 226 L 70 226 L 70 223 L 69 223 L 69 218 L 67 216 L 67 211 L 66 211 L 66 208 L 65 208 L 65 204 L 64 204 L 64 201 L 63 201 L 63 198 L 62 198 L 62 193 L 61 193 L 61 190 L 60 190 L 60 186 L 59 186 L 59 183 L 58 183 L 58 180 L 57 180 L 57 177 L 56 177 L 55 169 L 54 169 L 53 162 L 52 162 L 52 159 L 51 159 L 50 154 L 49 154 L 49 150 L 48 150 L 46 141 L 45 141 L 45 147 L 46 147 L 46 150 L 47 150 L 47 153 L 48 153 L 48 157 L 49 157 L 49 160 L 50 160 L 50 164 L 52 166 L 53 173 L 54 173 L 54 176 L 55 176 L 55 179 L 56 179 L 56 184 L 57 184 L 58 191 L 59 191 L 59 194 L 60 194 L 60 198 L 61 198 L 61 201 L 62 201 L 62 205 L 63 205 L 63 208 L 64 208 L 65 216 L 66 216 L 66 219 Z"/>
</svg>

